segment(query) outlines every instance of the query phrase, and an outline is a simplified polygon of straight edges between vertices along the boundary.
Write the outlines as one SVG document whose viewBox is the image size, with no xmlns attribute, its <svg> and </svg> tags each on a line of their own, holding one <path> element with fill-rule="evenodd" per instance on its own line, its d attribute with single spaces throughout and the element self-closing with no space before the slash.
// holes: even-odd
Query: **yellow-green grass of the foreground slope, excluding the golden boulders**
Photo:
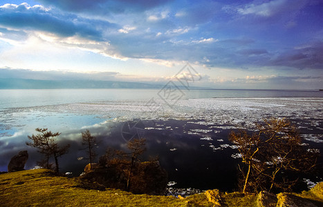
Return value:
<svg viewBox="0 0 323 207">
<path fill-rule="evenodd" d="M 213 206 L 203 193 L 178 199 L 115 189 L 86 190 L 80 186 L 77 178 L 55 177 L 45 169 L 5 173 L 0 175 L 0 206 Z M 312 191 L 297 196 L 320 206 L 323 199 Z M 323 192 L 323 185 L 316 191 Z M 223 206 L 256 206 L 256 198 L 242 193 L 221 194 Z"/>
</svg>

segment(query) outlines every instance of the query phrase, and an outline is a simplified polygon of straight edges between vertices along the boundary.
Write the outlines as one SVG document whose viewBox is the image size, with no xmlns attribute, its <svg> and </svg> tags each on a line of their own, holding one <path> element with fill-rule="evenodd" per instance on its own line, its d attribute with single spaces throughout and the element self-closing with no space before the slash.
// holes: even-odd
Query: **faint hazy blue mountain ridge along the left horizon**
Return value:
<svg viewBox="0 0 323 207">
<path fill-rule="evenodd" d="M 36 80 L 36 79 L 1 79 L 0 89 L 77 89 L 77 88 L 163 88 L 163 85 L 126 82 L 126 81 L 95 81 L 95 80 Z"/>
</svg>

